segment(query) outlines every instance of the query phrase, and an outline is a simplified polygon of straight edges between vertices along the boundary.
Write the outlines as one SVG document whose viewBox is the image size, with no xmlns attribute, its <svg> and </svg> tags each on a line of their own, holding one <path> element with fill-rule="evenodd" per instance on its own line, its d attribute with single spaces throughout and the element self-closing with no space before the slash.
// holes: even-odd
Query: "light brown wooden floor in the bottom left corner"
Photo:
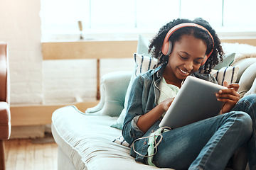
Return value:
<svg viewBox="0 0 256 170">
<path fill-rule="evenodd" d="M 7 140 L 4 145 L 6 170 L 57 169 L 58 147 L 54 142 Z"/>
</svg>

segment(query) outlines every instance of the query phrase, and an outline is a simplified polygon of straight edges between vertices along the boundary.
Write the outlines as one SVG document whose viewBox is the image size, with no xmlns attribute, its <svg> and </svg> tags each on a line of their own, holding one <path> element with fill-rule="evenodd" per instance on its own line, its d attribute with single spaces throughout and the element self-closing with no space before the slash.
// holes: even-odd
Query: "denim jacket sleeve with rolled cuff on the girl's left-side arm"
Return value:
<svg viewBox="0 0 256 170">
<path fill-rule="evenodd" d="M 144 135 L 144 132 L 137 126 L 141 115 L 144 115 L 142 108 L 143 79 L 138 76 L 134 79 L 132 91 L 129 95 L 127 114 L 124 118 L 122 135 L 124 140 L 132 144 L 134 140 Z"/>
</svg>

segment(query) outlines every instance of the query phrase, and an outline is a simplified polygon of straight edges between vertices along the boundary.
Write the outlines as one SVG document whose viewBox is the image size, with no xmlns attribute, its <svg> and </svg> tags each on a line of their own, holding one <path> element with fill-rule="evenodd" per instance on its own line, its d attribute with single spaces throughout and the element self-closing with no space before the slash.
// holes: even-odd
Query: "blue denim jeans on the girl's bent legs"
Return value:
<svg viewBox="0 0 256 170">
<path fill-rule="evenodd" d="M 255 111 L 256 95 L 250 95 L 230 113 L 164 132 L 154 163 L 173 169 L 225 169 L 230 157 L 246 145 L 250 169 L 255 170 Z"/>
</svg>

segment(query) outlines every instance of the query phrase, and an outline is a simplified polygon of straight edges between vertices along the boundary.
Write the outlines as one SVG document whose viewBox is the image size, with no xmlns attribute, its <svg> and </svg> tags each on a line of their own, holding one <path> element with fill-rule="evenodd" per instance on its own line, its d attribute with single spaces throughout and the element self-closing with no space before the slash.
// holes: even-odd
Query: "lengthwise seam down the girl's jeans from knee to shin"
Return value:
<svg viewBox="0 0 256 170">
<path fill-rule="evenodd" d="M 225 132 L 221 133 L 221 134 L 220 134 L 221 136 L 218 137 L 218 143 L 213 147 L 213 149 L 210 149 L 210 153 L 209 153 L 209 149 L 207 150 L 207 152 L 206 152 L 206 154 L 205 154 L 207 157 L 203 157 L 203 158 L 201 159 L 201 162 L 199 163 L 198 166 L 204 167 L 204 169 L 206 168 L 206 162 L 208 162 L 209 157 L 211 156 L 211 154 L 213 154 L 215 147 L 219 144 L 220 140 L 223 138 L 223 136 L 225 135 L 225 133 L 228 132 L 228 130 L 230 130 L 230 127 L 232 127 L 232 126 L 234 125 L 235 120 L 237 120 L 237 119 L 238 119 L 238 115 L 236 114 L 236 115 L 235 115 L 235 119 L 234 119 L 232 122 L 229 122 L 229 123 L 228 123 L 228 128 L 227 128 L 227 130 L 225 130 Z"/>
</svg>

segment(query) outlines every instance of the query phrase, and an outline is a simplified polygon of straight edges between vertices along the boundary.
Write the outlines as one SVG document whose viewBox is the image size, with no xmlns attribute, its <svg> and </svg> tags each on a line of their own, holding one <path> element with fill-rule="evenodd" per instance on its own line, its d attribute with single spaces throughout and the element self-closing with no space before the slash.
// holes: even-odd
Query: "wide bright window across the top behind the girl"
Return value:
<svg viewBox="0 0 256 170">
<path fill-rule="evenodd" d="M 255 0 L 41 0 L 43 38 L 50 35 L 156 33 L 174 18 L 202 17 L 216 30 L 253 31 Z"/>
</svg>

